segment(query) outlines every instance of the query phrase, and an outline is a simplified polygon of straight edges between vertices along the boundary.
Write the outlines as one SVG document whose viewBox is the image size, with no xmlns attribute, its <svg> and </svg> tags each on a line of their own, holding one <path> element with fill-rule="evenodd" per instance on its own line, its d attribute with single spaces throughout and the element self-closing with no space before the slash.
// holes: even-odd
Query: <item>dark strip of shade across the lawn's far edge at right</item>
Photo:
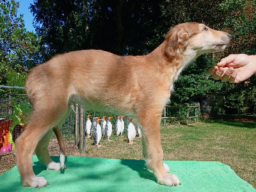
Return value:
<svg viewBox="0 0 256 192">
<path fill-rule="evenodd" d="M 230 125 L 235 127 L 245 127 L 248 129 L 255 129 L 256 123 L 255 122 L 242 122 L 234 119 L 211 119 L 211 120 L 204 120 L 205 123 L 208 124 L 223 124 L 223 125 Z"/>
</svg>

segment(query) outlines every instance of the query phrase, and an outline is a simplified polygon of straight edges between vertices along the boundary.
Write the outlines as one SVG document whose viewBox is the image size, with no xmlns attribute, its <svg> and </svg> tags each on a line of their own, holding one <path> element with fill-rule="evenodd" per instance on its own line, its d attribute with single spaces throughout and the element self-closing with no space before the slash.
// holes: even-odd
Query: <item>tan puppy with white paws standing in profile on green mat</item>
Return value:
<svg viewBox="0 0 256 192">
<path fill-rule="evenodd" d="M 143 56 L 117 56 L 99 50 L 74 51 L 55 56 L 34 67 L 26 79 L 26 93 L 33 114 L 26 131 L 16 141 L 17 166 L 24 186 L 42 187 L 47 182 L 32 170 L 32 154 L 42 149 L 47 158 L 51 130 L 69 114 L 72 103 L 86 109 L 118 111 L 136 118 L 143 127 L 143 154 L 159 184 L 180 184 L 163 166 L 160 121 L 170 98 L 173 81 L 191 61 L 206 52 L 223 51 L 228 33 L 204 24 L 185 23 L 170 29 L 163 44 Z M 49 131 L 51 131 L 49 133 Z M 47 136 L 45 136 L 45 134 Z M 40 147 L 45 140 L 44 147 Z M 37 147 L 36 147 L 37 145 Z M 56 169 L 58 170 L 58 169 Z"/>
</svg>

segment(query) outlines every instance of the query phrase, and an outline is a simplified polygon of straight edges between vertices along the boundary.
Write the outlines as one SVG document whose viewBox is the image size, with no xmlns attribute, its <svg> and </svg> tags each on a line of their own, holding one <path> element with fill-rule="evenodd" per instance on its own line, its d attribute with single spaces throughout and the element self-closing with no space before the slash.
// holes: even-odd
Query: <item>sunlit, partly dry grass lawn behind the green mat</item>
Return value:
<svg viewBox="0 0 256 192">
<path fill-rule="evenodd" d="M 65 141 L 67 156 L 143 159 L 139 138 L 134 145 L 129 145 L 125 137 L 111 136 L 111 140 L 102 140 L 100 148 L 93 146 L 92 140 L 86 140 L 84 154 L 79 153 L 74 141 Z M 161 141 L 164 160 L 220 161 L 256 188 L 256 124 L 253 122 L 205 120 L 193 125 L 162 125 Z M 49 151 L 52 156 L 58 154 L 54 138 Z M 10 161 L 7 156 L 0 164 L 4 163 L 2 160 Z M 172 172 L 172 167 L 170 170 Z"/>
</svg>

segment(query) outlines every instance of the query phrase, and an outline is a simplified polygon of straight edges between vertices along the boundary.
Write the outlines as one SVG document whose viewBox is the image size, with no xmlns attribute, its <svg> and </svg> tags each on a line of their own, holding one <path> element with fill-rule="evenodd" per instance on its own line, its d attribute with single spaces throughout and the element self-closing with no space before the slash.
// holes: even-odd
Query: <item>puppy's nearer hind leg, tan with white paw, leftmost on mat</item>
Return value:
<svg viewBox="0 0 256 192">
<path fill-rule="evenodd" d="M 56 106 L 55 108 L 36 108 L 30 117 L 26 130 L 15 141 L 17 167 L 22 179 L 23 186 L 40 188 L 47 186 L 44 177 L 36 177 L 32 168 L 32 155 L 38 141 L 51 137 L 52 129 L 60 122 L 61 116 L 67 113 L 67 107 Z M 45 133 L 47 136 L 44 137 Z M 49 156 L 49 155 L 48 155 Z M 49 159 L 48 159 L 49 160 Z"/>
</svg>

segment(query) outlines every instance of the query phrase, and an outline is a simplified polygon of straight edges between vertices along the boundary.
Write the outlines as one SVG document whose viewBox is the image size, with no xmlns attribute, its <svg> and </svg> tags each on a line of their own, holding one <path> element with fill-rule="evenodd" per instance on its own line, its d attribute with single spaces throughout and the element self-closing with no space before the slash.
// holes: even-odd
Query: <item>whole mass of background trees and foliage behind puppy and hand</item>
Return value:
<svg viewBox="0 0 256 192">
<path fill-rule="evenodd" d="M 24 29 L 18 7 L 14 1 L 1 3 L 1 84 L 13 81 L 8 80 L 9 71 L 24 72 L 63 52 L 103 49 L 119 55 L 147 54 L 163 42 L 172 26 L 203 22 L 232 33 L 232 42 L 225 52 L 200 56 L 182 72 L 172 104 L 198 102 L 207 93 L 227 93 L 227 113 L 255 113 L 255 77 L 228 84 L 209 75 L 209 68 L 223 56 L 256 54 L 255 0 L 34 0 L 36 35 Z"/>
</svg>

